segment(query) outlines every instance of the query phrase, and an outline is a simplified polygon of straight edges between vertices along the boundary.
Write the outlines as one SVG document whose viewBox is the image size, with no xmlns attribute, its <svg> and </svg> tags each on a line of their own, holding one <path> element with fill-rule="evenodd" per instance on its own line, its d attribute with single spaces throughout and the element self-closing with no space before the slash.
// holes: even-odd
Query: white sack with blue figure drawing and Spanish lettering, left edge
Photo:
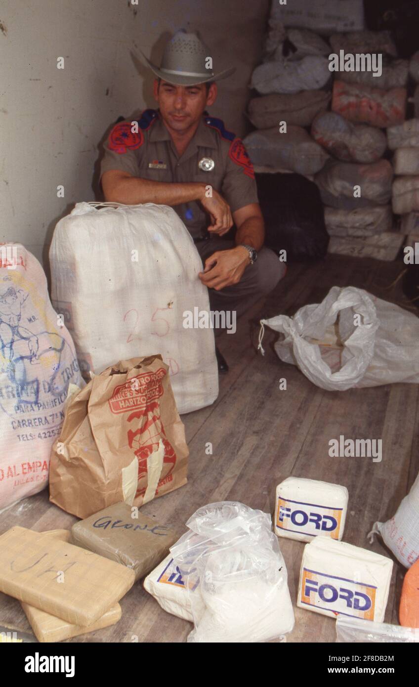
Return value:
<svg viewBox="0 0 419 687">
<path fill-rule="evenodd" d="M 80 384 L 71 336 L 38 260 L 0 246 L 0 511 L 48 484 L 69 383 Z"/>
</svg>

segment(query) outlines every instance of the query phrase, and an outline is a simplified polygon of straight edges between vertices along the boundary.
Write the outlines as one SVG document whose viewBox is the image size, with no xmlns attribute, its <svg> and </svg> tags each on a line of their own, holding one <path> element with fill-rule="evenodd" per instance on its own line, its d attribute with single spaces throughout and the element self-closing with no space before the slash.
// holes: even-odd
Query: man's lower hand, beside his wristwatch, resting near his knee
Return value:
<svg viewBox="0 0 419 687">
<path fill-rule="evenodd" d="M 227 251 L 216 251 L 205 260 L 205 268 L 199 278 L 208 289 L 220 291 L 225 286 L 238 284 L 247 265 L 250 264 L 249 251 L 236 246 Z"/>
</svg>

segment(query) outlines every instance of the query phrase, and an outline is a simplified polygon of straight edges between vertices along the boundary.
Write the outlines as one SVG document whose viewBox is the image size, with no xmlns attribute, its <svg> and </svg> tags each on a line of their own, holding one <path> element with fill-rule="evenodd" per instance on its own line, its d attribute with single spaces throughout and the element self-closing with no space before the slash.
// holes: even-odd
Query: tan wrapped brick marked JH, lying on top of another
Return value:
<svg viewBox="0 0 419 687">
<path fill-rule="evenodd" d="M 87 626 L 131 589 L 133 570 L 56 537 L 12 527 L 0 537 L 0 592 Z"/>
</svg>

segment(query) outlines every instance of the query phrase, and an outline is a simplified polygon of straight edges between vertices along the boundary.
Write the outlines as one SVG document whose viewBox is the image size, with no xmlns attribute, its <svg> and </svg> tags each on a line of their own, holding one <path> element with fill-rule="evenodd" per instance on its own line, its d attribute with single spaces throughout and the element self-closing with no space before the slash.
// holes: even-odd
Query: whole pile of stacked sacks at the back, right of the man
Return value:
<svg viewBox="0 0 419 687">
<path fill-rule="evenodd" d="M 419 82 L 419 52 L 400 59 L 391 32 L 363 30 L 362 3 L 343 1 L 339 12 L 328 11 L 327 1 L 313 11 L 297 5 L 291 12 L 272 4 L 264 59 L 251 78 L 259 95 L 247 112 L 256 127 L 245 138 L 248 153 L 257 173 L 314 179 L 329 252 L 394 260 L 403 236 L 419 225 L 419 157 L 417 150 L 395 155 L 402 178 L 393 184 L 394 148 L 385 129 L 406 126 L 407 85 Z M 346 56 L 370 54 L 381 56 L 381 73 L 378 60 L 370 71 L 331 71 L 331 56 L 341 69 Z M 414 102 L 419 109 L 419 87 Z M 277 176 L 275 183 L 280 194 L 284 181 Z M 416 211 L 394 231 L 394 214 Z"/>
</svg>

